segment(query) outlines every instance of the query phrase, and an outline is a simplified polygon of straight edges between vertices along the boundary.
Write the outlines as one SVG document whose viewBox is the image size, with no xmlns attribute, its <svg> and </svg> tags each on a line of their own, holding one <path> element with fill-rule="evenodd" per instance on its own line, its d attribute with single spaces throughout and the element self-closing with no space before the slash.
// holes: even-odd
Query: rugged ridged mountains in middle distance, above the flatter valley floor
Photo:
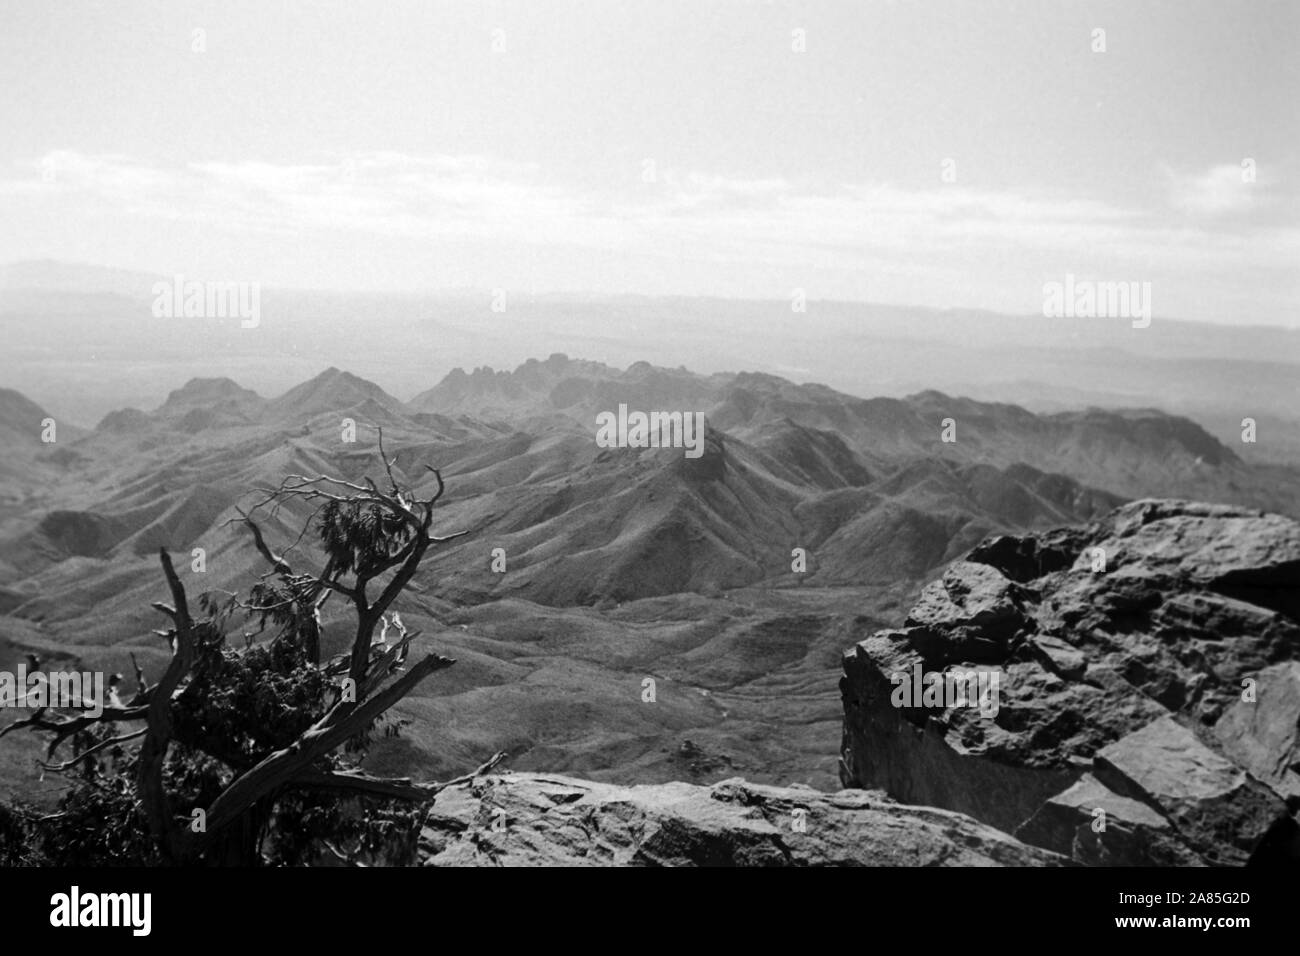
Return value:
<svg viewBox="0 0 1300 956">
<path fill-rule="evenodd" d="M 620 405 L 703 412 L 703 458 L 598 447 L 597 415 Z M 559 354 L 512 372 L 455 369 L 408 403 L 337 368 L 269 399 L 195 378 L 152 412 L 118 410 L 55 445 L 39 442 L 44 412 L 18 393 L 0 393 L 0 415 L 12 485 L 46 506 L 39 520 L 29 509 L 32 527 L 6 549 L 29 570 L 205 535 L 224 542 L 204 520 L 229 516 L 242 490 L 286 471 L 356 472 L 382 427 L 412 480 L 426 462 L 445 470 L 448 520 L 511 554 L 507 579 L 465 561 L 452 581 L 556 605 L 780 580 L 797 546 L 818 554 L 806 581 L 922 575 L 991 529 L 1086 520 L 1157 492 L 1284 512 L 1300 496 L 1292 470 L 1248 466 L 1156 410 L 1036 415 L 937 392 L 861 399 L 771 375 Z M 70 514 L 100 531 L 69 544 L 58 528 Z M 867 558 L 859 545 L 880 540 L 892 553 Z"/>
</svg>

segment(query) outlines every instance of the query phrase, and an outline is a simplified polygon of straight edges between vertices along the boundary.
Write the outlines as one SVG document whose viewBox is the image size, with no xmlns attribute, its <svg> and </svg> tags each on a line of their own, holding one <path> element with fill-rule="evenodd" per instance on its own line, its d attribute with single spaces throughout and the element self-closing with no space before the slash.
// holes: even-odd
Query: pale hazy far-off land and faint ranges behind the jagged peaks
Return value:
<svg viewBox="0 0 1300 956">
<path fill-rule="evenodd" d="M 1134 329 L 1124 320 L 815 297 L 805 312 L 794 312 L 789 300 L 521 290 L 504 290 L 506 311 L 498 312 L 490 290 L 289 289 L 263 290 L 261 321 L 243 329 L 238 320 L 156 319 L 153 284 L 172 280 L 170 273 L 60 261 L 0 267 L 0 334 L 6 342 L 0 381 L 60 418 L 90 424 L 122 406 L 153 407 L 196 376 L 229 376 L 270 395 L 337 365 L 380 382 L 391 395 L 416 397 L 419 410 L 446 412 L 454 403 L 428 406 L 426 390 L 458 365 L 473 368 L 484 356 L 516 365 L 530 355 L 567 351 L 620 367 L 646 360 L 703 372 L 746 368 L 863 397 L 937 389 L 1039 414 L 1156 407 L 1191 418 L 1247 460 L 1300 464 L 1297 329 L 1162 315 L 1150 328 Z M 526 368 L 510 373 L 511 382 L 532 394 L 533 380 L 547 373 Z M 465 372 L 476 375 L 485 373 Z M 436 386 L 439 401 L 456 389 L 450 377 Z M 517 399 L 498 398 L 506 408 Z M 482 416 L 473 407 L 468 414 Z M 1240 444 L 1244 418 L 1258 424 L 1256 444 Z"/>
</svg>

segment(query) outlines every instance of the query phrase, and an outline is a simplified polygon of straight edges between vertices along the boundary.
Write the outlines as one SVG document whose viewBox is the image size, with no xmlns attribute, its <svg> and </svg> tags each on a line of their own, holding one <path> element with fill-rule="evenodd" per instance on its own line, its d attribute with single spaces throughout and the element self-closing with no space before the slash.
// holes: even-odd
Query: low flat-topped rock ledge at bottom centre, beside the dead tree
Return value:
<svg viewBox="0 0 1300 956">
<path fill-rule="evenodd" d="M 430 866 L 1054 866 L 959 813 L 870 791 L 618 787 L 543 774 L 485 777 L 438 795 L 420 836 Z"/>
</svg>

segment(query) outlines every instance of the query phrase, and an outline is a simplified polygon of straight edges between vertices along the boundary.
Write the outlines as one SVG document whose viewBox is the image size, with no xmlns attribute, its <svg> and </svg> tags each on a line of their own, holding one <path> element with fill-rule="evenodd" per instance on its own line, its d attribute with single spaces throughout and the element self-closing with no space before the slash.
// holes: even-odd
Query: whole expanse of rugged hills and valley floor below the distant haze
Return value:
<svg viewBox="0 0 1300 956">
<path fill-rule="evenodd" d="M 701 455 L 601 447 L 595 416 L 620 405 L 702 408 Z M 403 481 L 426 492 L 438 467 L 439 533 L 471 533 L 430 553 L 398 609 L 420 650 L 458 663 L 398 706 L 408 723 L 369 758 L 420 777 L 507 750 L 517 770 L 620 784 L 742 775 L 836 790 L 841 654 L 896 626 L 988 535 L 1084 524 L 1150 494 L 1300 511 L 1294 468 L 1248 464 L 1157 411 L 863 399 L 563 355 L 458 369 L 411 402 L 337 368 L 273 398 L 196 378 L 53 446 L 35 403 L 9 392 L 0 412 L 0 666 L 38 653 L 130 675 L 134 659 L 152 679 L 168 658 L 150 607 L 165 589 L 159 548 L 194 593 L 246 589 L 264 567 L 231 518 L 257 489 L 376 475 L 377 427 Z M 945 418 L 957 442 L 940 440 Z M 273 546 L 292 545 L 308 515 L 274 512 Z M 347 623 L 326 606 L 326 653 L 346 646 Z M 52 799 L 35 741 L 6 743 L 3 786 Z"/>
</svg>

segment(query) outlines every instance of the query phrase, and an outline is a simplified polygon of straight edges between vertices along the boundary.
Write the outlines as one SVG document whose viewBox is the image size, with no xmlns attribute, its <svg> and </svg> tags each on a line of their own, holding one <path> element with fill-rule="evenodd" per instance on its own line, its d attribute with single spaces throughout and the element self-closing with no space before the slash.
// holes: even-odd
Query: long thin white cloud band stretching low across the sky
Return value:
<svg viewBox="0 0 1300 956">
<path fill-rule="evenodd" d="M 52 174 L 49 173 L 52 170 Z M 1249 208 L 1238 166 L 1196 176 L 1165 170 L 1179 209 L 1214 217 Z M 44 176 L 43 176 L 44 174 Z M 48 182 L 47 182 L 48 179 Z M 1083 272 L 1106 256 L 1195 274 L 1288 267 L 1295 228 L 1225 235 L 1213 222 L 1162 221 L 1149 211 L 1046 193 L 793 182 L 662 169 L 653 182 L 566 181 L 534 164 L 489 156 L 361 152 L 312 164 L 147 163 L 52 152 L 0 181 L 5 203 L 65 203 L 126 217 L 194 221 L 234 235 L 308 232 L 399 239 L 511 243 L 681 254 L 719 267 L 915 273 L 961 285 L 989 281 L 1034 256 Z M 1166 213 L 1167 216 L 1167 213 Z M 918 280 L 920 281 L 920 280 Z"/>
</svg>

